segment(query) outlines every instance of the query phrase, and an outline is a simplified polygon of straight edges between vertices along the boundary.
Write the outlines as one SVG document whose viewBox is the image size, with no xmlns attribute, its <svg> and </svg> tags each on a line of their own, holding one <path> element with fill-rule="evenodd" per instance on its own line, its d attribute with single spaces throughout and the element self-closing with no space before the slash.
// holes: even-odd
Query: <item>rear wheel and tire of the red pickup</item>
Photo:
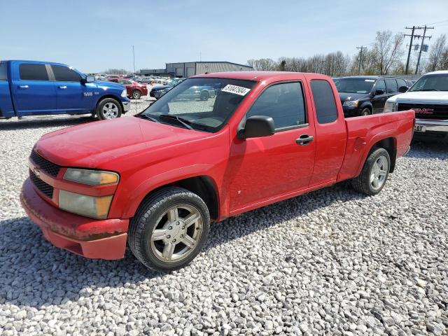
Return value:
<svg viewBox="0 0 448 336">
<path fill-rule="evenodd" d="M 351 185 L 359 193 L 377 195 L 386 185 L 390 167 L 388 152 L 384 148 L 377 148 L 365 160 L 361 174 L 351 180 Z"/>
</svg>

